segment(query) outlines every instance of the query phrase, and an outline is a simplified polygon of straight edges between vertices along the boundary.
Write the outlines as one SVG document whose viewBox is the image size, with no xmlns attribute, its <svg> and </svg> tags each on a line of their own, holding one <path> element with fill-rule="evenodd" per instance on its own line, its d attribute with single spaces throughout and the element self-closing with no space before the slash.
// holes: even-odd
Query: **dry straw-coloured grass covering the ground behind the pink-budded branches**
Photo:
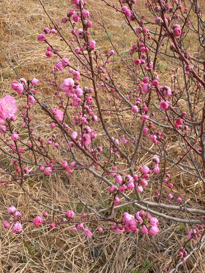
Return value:
<svg viewBox="0 0 205 273">
<path fill-rule="evenodd" d="M 56 22 L 60 22 L 60 18 L 66 16 L 66 11 L 70 7 L 70 2 L 64 0 L 53 0 L 52 2 L 45 0 L 44 3 L 51 17 L 56 18 Z M 140 1 L 140 3 L 142 5 L 144 1 Z M 129 50 L 134 38 L 129 31 L 127 32 L 125 22 L 116 18 L 114 13 L 111 14 L 105 4 L 100 1 L 89 0 L 88 9 L 96 20 L 100 20 L 100 16 L 104 19 L 109 34 L 117 45 L 116 48 L 119 48 L 121 54 L 126 54 L 125 51 Z M 0 1 L 0 10 L 1 49 L 17 73 L 24 78 L 36 77 L 39 79 L 42 79 L 43 74 L 48 75 L 54 59 L 46 58 L 45 45 L 39 43 L 36 37 L 49 24 L 49 20 L 38 0 L 2 0 Z M 121 39 L 121 32 L 123 34 L 127 32 L 126 40 Z M 112 48 L 103 29 L 99 29 L 95 25 L 93 35 L 100 44 L 101 52 Z M 60 45 L 60 41 L 55 39 L 55 46 L 60 48 Z M 68 54 L 65 47 L 60 53 Z M 167 67 L 163 64 L 163 60 L 161 62 L 165 66 L 164 77 L 166 78 L 166 73 L 169 72 L 166 71 Z M 64 74 L 60 77 L 63 78 Z M 129 86 L 129 81 L 123 78 L 123 69 L 120 63 L 117 77 L 119 82 L 123 79 L 123 84 Z M 10 84 L 16 79 L 13 69 L 0 54 L 0 97 L 12 92 Z M 52 105 L 54 96 L 50 87 L 40 83 L 39 90 L 40 96 L 46 97 Z M 16 94 L 12 92 L 12 95 Z M 20 103 L 19 97 L 18 103 Z M 37 129 L 41 130 L 41 136 L 46 139 L 49 135 L 49 130 L 44 125 L 46 120 L 42 119 L 40 111 L 33 111 L 35 111 L 33 113 L 38 121 Z M 127 118 L 129 119 L 129 117 Z M 174 142 L 174 137 L 174 134 L 170 134 L 168 151 L 177 159 L 180 157 L 180 151 Z M 54 151 L 54 153 L 57 152 Z M 59 160 L 63 159 L 63 155 L 56 154 L 56 156 Z M 146 154 L 141 156 L 144 156 L 144 163 L 146 163 L 148 161 Z M 186 188 L 187 191 L 198 197 L 197 204 L 195 200 L 189 200 L 189 205 L 193 204 L 198 208 L 204 207 L 203 187 L 198 179 L 190 180 L 188 173 L 182 173 L 178 169 L 167 171 L 172 176 L 170 182 L 177 184 L 176 192 L 183 197 Z M 110 196 L 107 193 L 107 186 L 105 185 L 102 191 L 102 187 L 99 187 L 100 183 L 102 182 L 86 171 L 78 171 L 72 176 L 67 176 L 64 173 L 56 173 L 46 179 L 39 176 L 37 180 L 28 181 L 27 187 L 36 199 L 45 204 L 52 206 L 53 202 L 63 211 L 73 208 L 75 212 L 80 214 L 85 212 L 85 208 L 76 200 L 76 193 L 81 195 L 84 202 L 96 209 L 103 207 L 108 202 Z M 92 186 L 90 186 L 91 184 Z M 43 214 L 45 208 L 29 199 L 14 183 L 7 187 L 3 185 L 0 187 L 0 221 L 2 223 L 7 217 L 9 205 L 18 207 L 26 219 Z M 148 198 L 151 195 L 152 188 L 150 188 Z M 135 208 L 133 208 L 134 211 Z M 117 213 L 120 218 L 124 211 L 119 209 Z M 51 217 L 55 217 L 54 213 L 50 214 Z M 170 215 L 173 214 L 170 213 Z M 174 215 L 177 216 L 175 213 Z M 181 217 L 181 214 L 178 217 Z M 70 226 L 61 225 L 59 228 L 51 230 L 47 226 L 34 227 L 31 224 L 25 224 L 23 232 L 17 235 L 13 234 L 11 230 L 8 232 L 1 224 L 0 272 L 160 273 L 174 264 L 178 249 L 185 241 L 190 226 L 162 218 L 159 219 L 159 222 L 160 233 L 154 238 L 132 233 L 113 234 L 106 230 L 103 234 L 94 232 L 91 238 L 86 238 L 81 234 L 72 233 Z M 94 231 L 98 226 L 90 224 L 90 228 Z M 193 245 L 190 243 L 190 249 Z M 203 247 L 201 251 L 196 251 L 185 264 L 179 267 L 177 272 L 201 273 L 204 272 L 204 267 Z"/>
</svg>

